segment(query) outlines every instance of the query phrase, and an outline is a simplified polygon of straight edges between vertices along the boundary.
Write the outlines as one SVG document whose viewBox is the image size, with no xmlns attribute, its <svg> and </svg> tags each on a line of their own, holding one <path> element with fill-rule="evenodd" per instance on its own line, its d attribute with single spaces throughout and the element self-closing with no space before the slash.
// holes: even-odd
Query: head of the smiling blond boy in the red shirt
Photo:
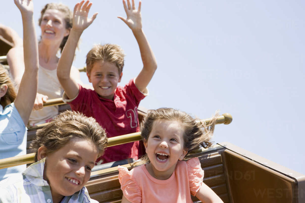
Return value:
<svg viewBox="0 0 305 203">
<path fill-rule="evenodd" d="M 95 92 L 112 100 L 123 74 L 123 50 L 116 44 L 95 45 L 87 54 L 86 64 L 87 76 Z"/>
</svg>

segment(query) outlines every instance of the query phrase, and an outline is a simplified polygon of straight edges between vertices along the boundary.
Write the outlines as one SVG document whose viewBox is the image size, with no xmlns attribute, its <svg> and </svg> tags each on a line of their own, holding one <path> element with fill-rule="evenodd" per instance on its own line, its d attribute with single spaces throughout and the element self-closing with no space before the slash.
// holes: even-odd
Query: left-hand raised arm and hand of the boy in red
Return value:
<svg viewBox="0 0 305 203">
<path fill-rule="evenodd" d="M 79 91 L 77 82 L 74 78 L 70 77 L 77 42 L 83 31 L 93 22 L 98 14 L 95 13 L 90 19 L 88 18 L 88 12 L 91 5 L 92 3 L 89 3 L 89 1 L 86 1 L 85 3 L 84 1 L 81 1 L 74 6 L 73 26 L 57 65 L 58 80 L 69 99 L 75 98 Z"/>
</svg>

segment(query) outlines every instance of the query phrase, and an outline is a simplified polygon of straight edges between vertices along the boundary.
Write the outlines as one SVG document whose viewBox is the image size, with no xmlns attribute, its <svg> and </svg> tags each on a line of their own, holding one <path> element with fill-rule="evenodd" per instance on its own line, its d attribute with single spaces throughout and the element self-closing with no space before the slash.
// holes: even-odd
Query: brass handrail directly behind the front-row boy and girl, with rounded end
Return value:
<svg viewBox="0 0 305 203">
<path fill-rule="evenodd" d="M 208 124 L 211 118 L 201 120 Z M 217 118 L 216 124 L 230 124 L 232 121 L 231 114 L 225 113 Z M 199 121 L 198 121 L 199 122 Z M 106 147 L 112 147 L 116 145 L 121 145 L 129 142 L 135 142 L 141 140 L 140 132 L 135 132 L 127 135 L 120 135 L 112 138 L 108 138 L 108 145 Z M 35 153 L 26 154 L 22 156 L 15 156 L 6 159 L 0 159 L 0 169 L 9 168 L 12 166 L 19 166 L 27 163 L 34 163 Z"/>
</svg>

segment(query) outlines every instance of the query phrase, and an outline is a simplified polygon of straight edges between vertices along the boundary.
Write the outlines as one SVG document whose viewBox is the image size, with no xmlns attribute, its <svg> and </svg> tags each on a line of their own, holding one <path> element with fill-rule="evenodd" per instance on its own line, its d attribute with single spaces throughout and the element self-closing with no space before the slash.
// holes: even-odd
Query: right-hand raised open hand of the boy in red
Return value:
<svg viewBox="0 0 305 203">
<path fill-rule="evenodd" d="M 130 4 L 130 0 L 127 0 L 127 5 L 125 0 L 123 0 L 124 9 L 127 15 L 127 18 L 123 18 L 121 16 L 117 16 L 119 19 L 123 20 L 124 23 L 132 31 L 137 31 L 142 29 L 142 17 L 141 17 L 141 1 L 139 1 L 138 10 L 135 8 L 135 0 L 132 0 L 132 5 Z"/>
</svg>

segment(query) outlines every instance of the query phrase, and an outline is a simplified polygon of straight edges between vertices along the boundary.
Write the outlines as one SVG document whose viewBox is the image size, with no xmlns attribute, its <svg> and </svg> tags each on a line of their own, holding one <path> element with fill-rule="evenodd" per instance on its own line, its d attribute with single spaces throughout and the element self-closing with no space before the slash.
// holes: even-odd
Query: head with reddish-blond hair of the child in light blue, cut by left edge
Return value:
<svg viewBox="0 0 305 203">
<path fill-rule="evenodd" d="M 7 70 L 0 65 L 0 103 L 3 108 L 14 102 L 17 96 L 15 85 L 9 78 Z"/>
</svg>

